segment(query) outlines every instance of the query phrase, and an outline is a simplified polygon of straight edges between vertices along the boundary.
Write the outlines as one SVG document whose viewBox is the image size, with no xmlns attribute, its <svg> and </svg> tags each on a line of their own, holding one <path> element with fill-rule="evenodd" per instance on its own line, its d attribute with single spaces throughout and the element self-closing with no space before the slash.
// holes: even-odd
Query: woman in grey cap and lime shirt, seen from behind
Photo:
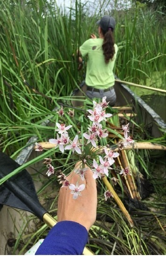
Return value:
<svg viewBox="0 0 166 256">
<path fill-rule="evenodd" d="M 86 95 L 91 99 L 106 96 L 109 105 L 113 106 L 116 103 L 113 68 L 118 53 L 113 37 L 116 22 L 113 17 L 104 15 L 97 25 L 99 38 L 92 34 L 79 48 L 78 69 L 81 68 L 82 58 L 87 55 Z"/>
</svg>

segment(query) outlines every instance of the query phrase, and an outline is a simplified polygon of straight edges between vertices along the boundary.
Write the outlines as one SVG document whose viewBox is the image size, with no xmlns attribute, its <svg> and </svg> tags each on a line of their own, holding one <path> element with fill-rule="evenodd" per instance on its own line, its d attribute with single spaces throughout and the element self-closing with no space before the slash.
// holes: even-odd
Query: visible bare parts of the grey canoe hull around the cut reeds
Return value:
<svg viewBox="0 0 166 256">
<path fill-rule="evenodd" d="M 76 90 L 73 95 L 73 106 L 76 107 L 80 105 L 80 102 L 78 102 L 75 98 L 77 97 L 83 97 L 83 91 L 86 90 L 86 87 L 82 83 L 81 90 Z M 154 138 L 163 136 L 162 130 L 166 129 L 166 124 L 164 121 L 159 117 L 157 113 L 155 113 L 150 106 L 145 104 L 145 102 L 139 98 L 136 97 L 135 94 L 124 84 L 115 83 L 115 90 L 117 93 L 117 103 L 115 108 L 121 108 L 123 109 L 125 107 L 125 111 L 128 111 L 131 114 L 131 108 L 133 109 L 134 113 L 137 114 L 137 109 L 139 108 L 139 111 L 141 112 L 142 120 L 150 127 L 151 136 Z M 56 109 L 54 109 L 55 111 Z M 49 115 L 50 119 L 50 115 Z M 48 121 L 45 121 L 42 125 L 48 125 Z M 39 152 L 34 151 L 34 144 L 37 141 L 37 137 L 31 137 L 26 147 L 20 152 L 18 157 L 16 158 L 16 162 L 20 165 L 23 165 L 25 162 L 28 162 L 30 159 L 35 158 Z M 38 166 L 40 166 L 40 163 L 38 163 Z M 38 166 L 33 166 L 35 169 L 38 168 Z M 29 173 L 32 173 L 32 169 L 27 169 Z M 40 188 L 39 182 L 35 183 L 36 189 Z M 11 247 L 11 242 L 15 241 L 15 238 L 18 236 L 21 228 L 24 226 L 26 219 L 29 215 L 32 215 L 31 213 L 28 213 L 27 211 L 19 211 L 15 210 L 11 207 L 3 206 L 0 211 L 0 237 L 1 237 L 1 243 L 0 243 L 0 255 L 9 255 L 12 254 L 13 248 Z M 31 229 L 34 229 L 35 232 L 35 226 L 34 223 L 30 226 Z M 25 230 L 25 233 L 28 232 L 28 228 Z M 15 254 L 17 254 L 19 251 L 16 251 Z"/>
</svg>

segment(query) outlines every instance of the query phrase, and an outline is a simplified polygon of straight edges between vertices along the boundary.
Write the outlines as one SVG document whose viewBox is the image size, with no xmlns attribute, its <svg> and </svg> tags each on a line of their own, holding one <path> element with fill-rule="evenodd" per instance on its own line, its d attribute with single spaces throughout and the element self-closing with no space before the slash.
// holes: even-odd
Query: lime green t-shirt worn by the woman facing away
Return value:
<svg viewBox="0 0 166 256">
<path fill-rule="evenodd" d="M 114 85 L 114 63 L 117 57 L 118 46 L 115 44 L 113 60 L 105 64 L 103 54 L 103 38 L 88 39 L 80 46 L 81 55 L 88 55 L 85 83 L 97 89 L 107 89 Z"/>
</svg>

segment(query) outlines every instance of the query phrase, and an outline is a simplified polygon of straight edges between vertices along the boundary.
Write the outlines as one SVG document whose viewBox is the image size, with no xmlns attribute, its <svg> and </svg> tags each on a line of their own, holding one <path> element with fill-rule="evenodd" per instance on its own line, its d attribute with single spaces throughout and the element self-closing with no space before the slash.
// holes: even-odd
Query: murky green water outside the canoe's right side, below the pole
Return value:
<svg viewBox="0 0 166 256">
<path fill-rule="evenodd" d="M 166 95 L 149 94 L 140 96 L 166 122 Z"/>
</svg>

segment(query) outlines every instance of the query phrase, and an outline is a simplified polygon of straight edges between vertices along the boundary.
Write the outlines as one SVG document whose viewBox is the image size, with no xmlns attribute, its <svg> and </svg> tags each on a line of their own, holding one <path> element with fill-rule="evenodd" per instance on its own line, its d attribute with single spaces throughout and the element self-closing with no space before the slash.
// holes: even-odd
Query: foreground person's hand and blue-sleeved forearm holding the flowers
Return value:
<svg viewBox="0 0 166 256">
<path fill-rule="evenodd" d="M 76 164 L 76 166 L 79 162 Z M 76 168 L 75 166 L 75 168 Z M 97 186 L 93 173 L 87 168 L 85 189 L 76 200 L 68 187 L 61 187 L 58 197 L 57 224 L 52 227 L 35 255 L 82 255 L 88 241 L 88 232 L 97 215 Z M 69 174 L 70 184 L 76 184 L 80 176 Z"/>
</svg>

